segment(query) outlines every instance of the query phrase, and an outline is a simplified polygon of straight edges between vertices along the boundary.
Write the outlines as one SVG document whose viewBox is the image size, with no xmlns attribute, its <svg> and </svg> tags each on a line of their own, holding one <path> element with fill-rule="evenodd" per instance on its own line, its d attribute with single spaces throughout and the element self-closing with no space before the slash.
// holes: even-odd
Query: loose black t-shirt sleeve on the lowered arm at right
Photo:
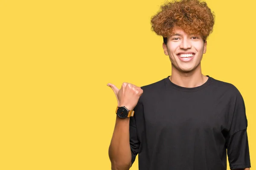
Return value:
<svg viewBox="0 0 256 170">
<path fill-rule="evenodd" d="M 250 167 L 247 118 L 244 100 L 239 92 L 233 108 L 232 122 L 226 140 L 231 170 Z"/>
</svg>

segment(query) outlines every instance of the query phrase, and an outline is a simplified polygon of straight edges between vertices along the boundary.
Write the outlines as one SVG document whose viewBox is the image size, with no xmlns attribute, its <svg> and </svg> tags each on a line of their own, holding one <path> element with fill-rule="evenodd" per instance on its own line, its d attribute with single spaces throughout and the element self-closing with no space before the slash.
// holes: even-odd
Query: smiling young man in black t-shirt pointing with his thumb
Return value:
<svg viewBox="0 0 256 170">
<path fill-rule="evenodd" d="M 227 155 L 232 170 L 249 170 L 244 100 L 232 84 L 201 72 L 214 14 L 205 2 L 181 0 L 151 23 L 172 76 L 141 88 L 108 84 L 118 101 L 112 170 L 128 170 L 137 154 L 140 170 L 226 170 Z"/>
</svg>

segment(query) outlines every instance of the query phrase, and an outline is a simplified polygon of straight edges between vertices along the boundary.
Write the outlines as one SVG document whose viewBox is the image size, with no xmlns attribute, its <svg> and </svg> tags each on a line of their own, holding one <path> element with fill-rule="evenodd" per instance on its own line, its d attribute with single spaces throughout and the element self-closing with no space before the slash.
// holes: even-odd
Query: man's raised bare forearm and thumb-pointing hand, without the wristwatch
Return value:
<svg viewBox="0 0 256 170">
<path fill-rule="evenodd" d="M 123 83 L 119 90 L 115 85 L 108 84 L 114 91 L 118 106 L 125 106 L 132 111 L 143 93 L 140 87 L 129 83 Z M 131 167 L 131 147 L 130 147 L 130 118 L 119 118 L 116 115 L 116 124 L 109 146 L 108 155 L 111 161 L 112 170 L 129 170 Z"/>
</svg>

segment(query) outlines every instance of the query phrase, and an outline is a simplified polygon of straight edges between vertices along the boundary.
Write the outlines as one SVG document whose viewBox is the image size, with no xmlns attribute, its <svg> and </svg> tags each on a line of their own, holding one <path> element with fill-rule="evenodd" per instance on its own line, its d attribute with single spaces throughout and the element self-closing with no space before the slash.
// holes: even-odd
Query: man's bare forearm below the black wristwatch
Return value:
<svg viewBox="0 0 256 170">
<path fill-rule="evenodd" d="M 131 167 L 129 122 L 130 118 L 121 119 L 116 116 L 116 125 L 108 150 L 112 170 L 129 170 Z"/>
</svg>

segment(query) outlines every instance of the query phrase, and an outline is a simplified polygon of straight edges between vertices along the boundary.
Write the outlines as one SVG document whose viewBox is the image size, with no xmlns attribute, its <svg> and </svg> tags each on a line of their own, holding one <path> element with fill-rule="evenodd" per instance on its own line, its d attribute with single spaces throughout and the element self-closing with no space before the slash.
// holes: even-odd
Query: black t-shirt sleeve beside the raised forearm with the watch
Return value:
<svg viewBox="0 0 256 170">
<path fill-rule="evenodd" d="M 137 135 L 136 115 L 143 112 L 142 103 L 139 101 L 134 108 L 134 116 L 130 117 L 130 147 L 131 147 L 131 164 L 134 163 L 135 158 L 139 152 L 140 141 Z"/>
</svg>

